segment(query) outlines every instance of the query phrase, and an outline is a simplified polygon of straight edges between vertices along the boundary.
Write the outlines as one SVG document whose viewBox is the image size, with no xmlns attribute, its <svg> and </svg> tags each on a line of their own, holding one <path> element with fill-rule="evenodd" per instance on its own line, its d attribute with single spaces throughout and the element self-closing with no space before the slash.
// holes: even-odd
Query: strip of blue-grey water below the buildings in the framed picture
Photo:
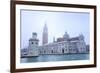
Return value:
<svg viewBox="0 0 100 73">
<path fill-rule="evenodd" d="M 39 55 L 38 57 L 21 58 L 21 63 L 88 60 L 89 54 Z"/>
</svg>

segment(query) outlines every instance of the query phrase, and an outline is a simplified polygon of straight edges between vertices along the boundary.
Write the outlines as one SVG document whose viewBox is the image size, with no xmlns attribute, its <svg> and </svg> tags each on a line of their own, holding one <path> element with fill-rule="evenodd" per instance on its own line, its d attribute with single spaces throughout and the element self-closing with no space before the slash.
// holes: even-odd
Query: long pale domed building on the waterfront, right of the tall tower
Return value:
<svg viewBox="0 0 100 73">
<path fill-rule="evenodd" d="M 69 54 L 69 53 L 86 53 L 86 44 L 83 35 L 69 38 L 66 32 L 62 38 L 57 41 L 48 43 L 39 47 L 39 54 Z"/>
</svg>

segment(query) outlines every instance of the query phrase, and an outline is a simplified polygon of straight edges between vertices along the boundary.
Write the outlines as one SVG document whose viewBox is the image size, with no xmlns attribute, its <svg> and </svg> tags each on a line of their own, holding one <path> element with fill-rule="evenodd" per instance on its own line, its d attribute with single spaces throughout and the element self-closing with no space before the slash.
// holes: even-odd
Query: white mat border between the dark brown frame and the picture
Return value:
<svg viewBox="0 0 100 73">
<path fill-rule="evenodd" d="M 52 10 L 52 11 L 72 11 L 72 12 L 89 12 L 90 13 L 90 60 L 80 61 L 61 61 L 61 62 L 39 62 L 39 63 L 20 63 L 20 10 Z M 75 65 L 91 65 L 94 64 L 94 10 L 86 8 L 71 7 L 52 7 L 52 6 L 36 6 L 36 5 L 16 5 L 16 69 L 23 68 L 40 68 L 55 66 L 75 66 Z"/>
</svg>

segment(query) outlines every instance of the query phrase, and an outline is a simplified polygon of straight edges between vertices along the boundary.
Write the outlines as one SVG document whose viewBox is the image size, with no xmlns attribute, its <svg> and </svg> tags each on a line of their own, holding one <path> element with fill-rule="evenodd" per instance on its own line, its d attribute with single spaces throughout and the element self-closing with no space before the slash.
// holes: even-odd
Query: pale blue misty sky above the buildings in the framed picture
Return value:
<svg viewBox="0 0 100 73">
<path fill-rule="evenodd" d="M 28 46 L 32 32 L 37 33 L 39 45 L 42 44 L 45 23 L 48 27 L 49 43 L 53 42 L 53 37 L 57 39 L 67 32 L 70 37 L 76 37 L 82 33 L 86 44 L 89 44 L 89 13 L 21 10 L 21 48 Z"/>
</svg>

